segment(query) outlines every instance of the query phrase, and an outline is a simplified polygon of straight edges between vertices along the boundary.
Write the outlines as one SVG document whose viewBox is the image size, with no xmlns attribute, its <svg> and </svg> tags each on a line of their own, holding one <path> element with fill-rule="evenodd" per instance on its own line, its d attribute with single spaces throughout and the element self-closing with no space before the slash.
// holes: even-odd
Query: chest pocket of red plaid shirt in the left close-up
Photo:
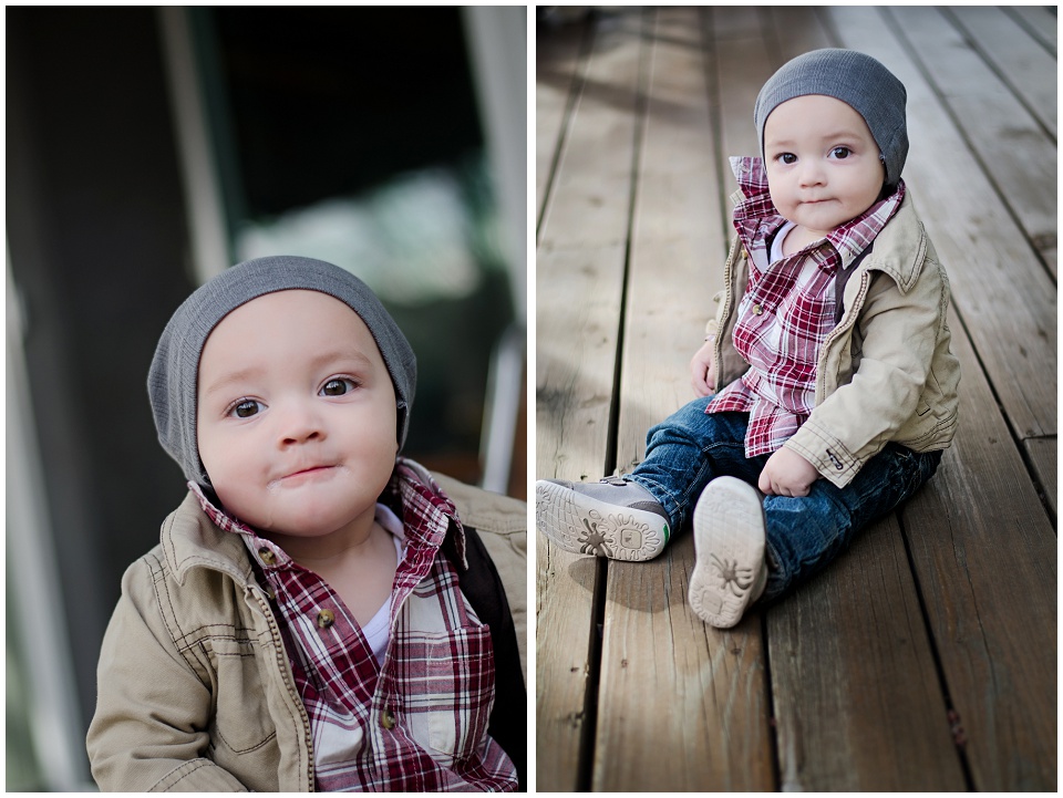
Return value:
<svg viewBox="0 0 1063 798">
<path fill-rule="evenodd" d="M 495 657 L 487 626 L 410 636 L 403 711 L 411 737 L 433 758 L 465 759 L 487 736 Z M 436 756 L 441 755 L 441 756 Z"/>
</svg>

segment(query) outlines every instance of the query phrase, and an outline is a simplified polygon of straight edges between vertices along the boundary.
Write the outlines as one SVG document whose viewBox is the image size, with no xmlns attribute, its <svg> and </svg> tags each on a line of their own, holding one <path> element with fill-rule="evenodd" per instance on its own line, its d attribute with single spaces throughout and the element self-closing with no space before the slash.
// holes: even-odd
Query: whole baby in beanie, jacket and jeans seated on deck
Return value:
<svg viewBox="0 0 1063 798">
<path fill-rule="evenodd" d="M 732 158 L 736 240 L 691 361 L 699 398 L 625 477 L 536 484 L 560 548 L 657 557 L 692 517 L 689 601 L 729 628 L 822 570 L 935 473 L 958 418 L 948 278 L 900 173 L 904 84 L 868 55 L 785 64 Z"/>
</svg>

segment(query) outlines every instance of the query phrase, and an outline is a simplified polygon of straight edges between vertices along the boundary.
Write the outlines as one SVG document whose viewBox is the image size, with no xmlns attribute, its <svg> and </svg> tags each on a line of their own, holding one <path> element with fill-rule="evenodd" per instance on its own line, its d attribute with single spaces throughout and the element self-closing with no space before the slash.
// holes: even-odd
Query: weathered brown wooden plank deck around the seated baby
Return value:
<svg viewBox="0 0 1063 798">
<path fill-rule="evenodd" d="M 537 542 L 538 790 L 1056 789 L 1054 10 L 640 10 L 539 29 L 536 477 L 630 470 L 692 397 L 752 107 L 789 58 L 908 89 L 905 168 L 953 290 L 942 467 L 735 629 L 649 563 Z"/>
</svg>

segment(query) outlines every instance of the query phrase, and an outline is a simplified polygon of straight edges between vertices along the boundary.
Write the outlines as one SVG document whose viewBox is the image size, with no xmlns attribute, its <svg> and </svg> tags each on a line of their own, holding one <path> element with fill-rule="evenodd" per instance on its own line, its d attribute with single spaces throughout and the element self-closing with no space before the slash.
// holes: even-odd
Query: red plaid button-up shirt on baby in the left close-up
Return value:
<svg viewBox="0 0 1063 798">
<path fill-rule="evenodd" d="M 516 790 L 513 763 L 487 736 L 491 632 L 437 556 L 454 522 L 464 559 L 464 533 L 427 471 L 400 458 L 390 485 L 402 505 L 402 530 L 390 531 L 404 547 L 383 664 L 324 580 L 189 487 L 211 521 L 244 538 L 265 580 L 310 718 L 319 791 Z"/>
</svg>

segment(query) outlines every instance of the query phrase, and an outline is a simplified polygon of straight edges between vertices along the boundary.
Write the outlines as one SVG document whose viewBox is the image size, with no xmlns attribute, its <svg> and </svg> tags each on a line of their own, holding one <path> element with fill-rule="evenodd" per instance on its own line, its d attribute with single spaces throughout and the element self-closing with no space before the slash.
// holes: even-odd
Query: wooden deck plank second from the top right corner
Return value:
<svg viewBox="0 0 1063 798">
<path fill-rule="evenodd" d="M 972 6 L 949 11 L 1052 137 L 1056 137 L 1055 59 L 999 8 Z"/>
</svg>

